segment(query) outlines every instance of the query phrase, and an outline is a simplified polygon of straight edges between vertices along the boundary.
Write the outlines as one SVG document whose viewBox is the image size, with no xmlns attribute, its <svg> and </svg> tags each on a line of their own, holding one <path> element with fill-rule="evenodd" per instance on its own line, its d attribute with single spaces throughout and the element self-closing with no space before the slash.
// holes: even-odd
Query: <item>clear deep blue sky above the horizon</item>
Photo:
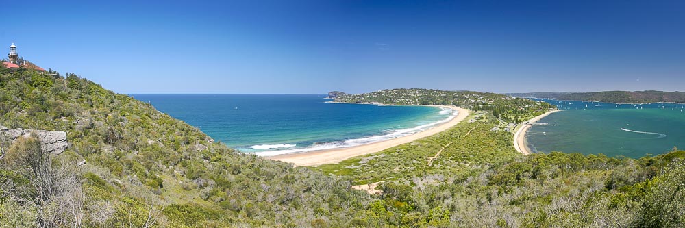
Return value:
<svg viewBox="0 0 685 228">
<path fill-rule="evenodd" d="M 16 42 L 38 66 L 121 93 L 685 90 L 682 0 L 3 1 L 1 12 L 0 50 Z"/>
</svg>

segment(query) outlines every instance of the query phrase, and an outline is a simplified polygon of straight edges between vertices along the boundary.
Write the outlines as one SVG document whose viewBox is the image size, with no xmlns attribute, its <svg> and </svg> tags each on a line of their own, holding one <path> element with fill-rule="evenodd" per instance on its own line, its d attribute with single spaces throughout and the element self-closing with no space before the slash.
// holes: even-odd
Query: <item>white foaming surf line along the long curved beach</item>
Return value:
<svg viewBox="0 0 685 228">
<path fill-rule="evenodd" d="M 441 107 L 442 108 L 442 107 Z M 443 114 L 443 111 L 445 111 L 445 108 L 440 111 L 440 114 Z M 258 152 L 253 152 L 256 155 L 260 156 L 273 156 L 273 155 L 279 155 L 279 154 L 285 154 L 285 153 L 302 153 L 302 152 L 307 152 L 307 151 L 321 151 L 321 150 L 327 150 L 327 149 L 337 149 L 337 148 L 345 148 L 345 147 L 355 147 L 359 146 L 362 144 L 369 144 L 373 142 L 380 142 L 384 140 L 390 140 L 393 138 L 399 138 L 402 136 L 408 136 L 410 134 L 416 134 L 421 131 L 425 131 L 426 129 L 429 129 L 431 127 L 434 127 L 435 125 L 440 125 L 441 123 L 447 123 L 451 121 L 453 118 L 455 118 L 458 114 L 456 111 L 451 111 L 447 110 L 448 113 L 451 115 L 443 120 L 436 121 L 433 123 L 428 123 L 425 125 L 420 125 L 408 129 L 397 129 L 397 130 L 390 130 L 387 131 L 388 134 L 380 135 L 380 136 L 369 136 L 365 138 L 354 138 L 350 140 L 345 140 L 343 142 L 325 142 L 325 143 L 320 143 L 320 144 L 314 144 L 311 147 L 306 147 L 306 148 L 299 148 L 299 149 L 284 149 L 284 150 L 275 150 L 275 151 L 258 151 Z M 288 144 L 292 145 L 292 144 Z M 264 146 L 264 145 L 260 145 Z M 273 145 L 271 145 L 273 146 Z M 295 145 L 292 145 L 295 147 Z M 258 146 L 252 146 L 252 149 L 264 149 L 264 148 L 255 148 Z M 284 148 L 284 147 L 272 147 L 272 148 L 266 148 L 266 149 L 277 149 L 277 148 Z"/>
</svg>

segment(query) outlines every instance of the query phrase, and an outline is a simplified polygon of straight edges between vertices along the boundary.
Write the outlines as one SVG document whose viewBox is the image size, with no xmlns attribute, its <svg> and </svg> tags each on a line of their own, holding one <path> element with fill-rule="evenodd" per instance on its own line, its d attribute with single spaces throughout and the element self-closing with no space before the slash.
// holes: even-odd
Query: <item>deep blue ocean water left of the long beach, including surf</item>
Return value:
<svg viewBox="0 0 685 228">
<path fill-rule="evenodd" d="M 324 95 L 132 94 L 229 147 L 258 155 L 351 147 L 412 134 L 446 121 L 425 106 L 326 103 Z"/>
</svg>

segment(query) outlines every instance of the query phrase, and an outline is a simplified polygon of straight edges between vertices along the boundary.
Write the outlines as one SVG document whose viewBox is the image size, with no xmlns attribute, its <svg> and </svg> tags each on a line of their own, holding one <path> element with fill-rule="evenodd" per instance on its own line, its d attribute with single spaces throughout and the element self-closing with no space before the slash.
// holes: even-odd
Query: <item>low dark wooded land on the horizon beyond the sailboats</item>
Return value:
<svg viewBox="0 0 685 228">
<path fill-rule="evenodd" d="M 604 92 L 530 92 L 508 93 L 513 97 L 535 97 L 573 101 L 600 101 L 608 103 L 685 103 L 685 92 L 663 91 L 604 91 Z"/>
</svg>

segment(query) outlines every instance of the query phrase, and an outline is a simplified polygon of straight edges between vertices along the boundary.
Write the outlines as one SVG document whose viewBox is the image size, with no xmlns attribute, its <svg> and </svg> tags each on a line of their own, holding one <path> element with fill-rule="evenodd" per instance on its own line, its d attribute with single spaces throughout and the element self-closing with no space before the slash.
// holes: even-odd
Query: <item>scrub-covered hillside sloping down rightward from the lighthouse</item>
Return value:
<svg viewBox="0 0 685 228">
<path fill-rule="evenodd" d="M 211 143 L 195 127 L 76 75 L 0 71 L 0 125 L 66 131 L 71 144 L 41 155 L 45 172 L 34 173 L 26 167 L 36 162 L 13 157 L 38 155 L 35 140 L 10 143 L 0 134 L 0 227 L 346 227 L 371 200 L 347 190 L 347 181 Z M 69 188 L 41 192 L 42 176 Z"/>
</svg>

